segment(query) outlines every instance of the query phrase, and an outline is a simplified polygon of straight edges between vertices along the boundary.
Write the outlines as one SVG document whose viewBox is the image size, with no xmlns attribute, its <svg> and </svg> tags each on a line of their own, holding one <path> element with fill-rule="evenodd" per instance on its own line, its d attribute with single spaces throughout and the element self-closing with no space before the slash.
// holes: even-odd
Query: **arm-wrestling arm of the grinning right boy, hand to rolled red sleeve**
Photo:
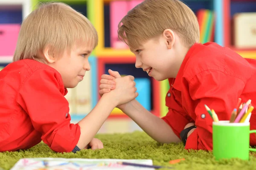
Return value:
<svg viewBox="0 0 256 170">
<path fill-rule="evenodd" d="M 102 75 L 101 84 L 99 86 L 100 95 L 108 93 L 113 79 L 121 77 L 118 72 L 109 70 L 109 73 L 110 75 Z M 169 93 L 171 95 L 168 95 Z M 153 115 L 136 100 L 118 107 L 154 140 L 160 143 L 179 142 L 180 132 L 184 129 L 186 124 L 193 120 L 175 100 L 175 94 L 172 90 L 169 90 L 167 93 L 166 102 L 169 104 L 167 106 L 169 107 L 169 112 L 163 118 Z"/>
</svg>

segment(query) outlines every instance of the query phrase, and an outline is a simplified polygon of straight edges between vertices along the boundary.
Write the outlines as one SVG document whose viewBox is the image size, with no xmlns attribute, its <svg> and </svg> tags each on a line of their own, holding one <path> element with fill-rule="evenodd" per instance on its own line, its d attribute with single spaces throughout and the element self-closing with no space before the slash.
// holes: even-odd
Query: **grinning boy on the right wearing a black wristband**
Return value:
<svg viewBox="0 0 256 170">
<path fill-rule="evenodd" d="M 216 43 L 199 43 L 195 14 L 180 0 L 145 0 L 120 21 L 119 37 L 136 55 L 135 66 L 157 81 L 169 80 L 169 112 L 159 118 L 136 100 L 118 106 L 161 143 L 183 141 L 186 149 L 212 150 L 212 118 L 229 120 L 238 98 L 256 102 L 256 60 Z M 109 92 L 118 72 L 102 75 L 99 94 Z M 250 128 L 256 129 L 255 111 Z M 250 135 L 250 145 L 256 145 Z"/>
</svg>

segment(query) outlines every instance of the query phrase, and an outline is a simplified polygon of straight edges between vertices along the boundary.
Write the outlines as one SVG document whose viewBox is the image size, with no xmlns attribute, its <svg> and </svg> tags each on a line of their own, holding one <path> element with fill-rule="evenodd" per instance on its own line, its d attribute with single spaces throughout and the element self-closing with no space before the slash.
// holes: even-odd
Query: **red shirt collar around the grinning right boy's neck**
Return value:
<svg viewBox="0 0 256 170">
<path fill-rule="evenodd" d="M 176 78 L 173 78 L 172 80 L 169 80 L 169 83 L 172 82 L 172 84 L 170 84 L 173 88 L 181 91 L 181 85 L 182 85 L 182 78 L 184 75 L 184 69 L 186 66 L 187 61 L 189 60 L 190 56 L 193 54 L 193 52 L 195 51 L 195 49 L 201 49 L 199 48 L 199 46 L 201 46 L 201 43 L 195 43 L 193 46 L 190 47 L 189 51 L 187 52 L 185 58 L 183 59 L 180 69 L 176 75 Z"/>
</svg>

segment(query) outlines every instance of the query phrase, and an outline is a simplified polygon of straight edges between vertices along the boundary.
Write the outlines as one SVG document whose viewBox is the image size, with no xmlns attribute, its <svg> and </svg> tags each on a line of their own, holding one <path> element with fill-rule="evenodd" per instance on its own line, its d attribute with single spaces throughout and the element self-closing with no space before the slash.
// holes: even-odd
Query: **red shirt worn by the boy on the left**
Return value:
<svg viewBox="0 0 256 170">
<path fill-rule="evenodd" d="M 28 149 L 41 140 L 55 152 L 70 152 L 80 127 L 70 124 L 67 89 L 52 67 L 34 61 L 0 71 L 0 152 Z"/>
</svg>

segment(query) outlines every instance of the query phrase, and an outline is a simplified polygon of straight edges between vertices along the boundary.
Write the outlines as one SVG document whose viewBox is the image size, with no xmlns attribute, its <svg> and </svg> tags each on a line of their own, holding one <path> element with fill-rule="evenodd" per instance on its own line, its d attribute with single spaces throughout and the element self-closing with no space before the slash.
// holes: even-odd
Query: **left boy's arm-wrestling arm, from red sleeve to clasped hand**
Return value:
<svg viewBox="0 0 256 170">
<path fill-rule="evenodd" d="M 78 124 L 70 124 L 69 104 L 60 92 L 58 76 L 43 69 L 33 73 L 23 84 L 17 102 L 31 119 L 32 126 L 42 134 L 42 140 L 56 152 L 71 152 L 76 145 L 83 149 L 98 132 L 105 119 L 116 107 L 115 98 L 122 89 L 125 99 L 136 98 L 132 81 L 125 79 L 118 91 L 102 96 L 97 106 Z M 122 86 L 123 85 L 123 86 Z M 134 87 L 135 88 L 135 87 Z M 133 92 L 134 91 L 134 92 Z M 114 100 L 112 100 L 114 98 Z M 122 98 L 122 101 L 125 100 Z M 131 100 L 129 99 L 129 100 Z"/>
</svg>

